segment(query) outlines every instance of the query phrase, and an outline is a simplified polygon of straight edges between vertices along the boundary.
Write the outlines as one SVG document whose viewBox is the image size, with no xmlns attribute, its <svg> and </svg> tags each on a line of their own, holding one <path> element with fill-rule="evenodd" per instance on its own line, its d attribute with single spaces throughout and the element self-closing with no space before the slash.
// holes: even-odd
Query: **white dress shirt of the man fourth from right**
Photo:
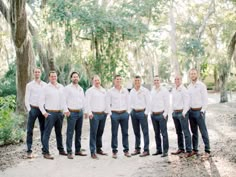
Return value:
<svg viewBox="0 0 236 177">
<path fill-rule="evenodd" d="M 131 109 L 145 109 L 145 114 L 149 114 L 150 92 L 145 87 L 140 87 L 139 90 L 133 88 L 130 91 L 130 107 Z"/>
</svg>

